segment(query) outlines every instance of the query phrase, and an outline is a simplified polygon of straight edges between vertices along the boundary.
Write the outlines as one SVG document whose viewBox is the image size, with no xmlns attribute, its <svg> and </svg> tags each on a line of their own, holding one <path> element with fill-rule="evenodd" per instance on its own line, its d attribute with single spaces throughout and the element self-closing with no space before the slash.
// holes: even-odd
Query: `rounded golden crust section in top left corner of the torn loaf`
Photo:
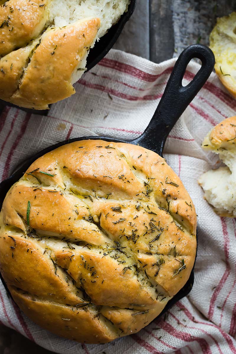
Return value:
<svg viewBox="0 0 236 354">
<path fill-rule="evenodd" d="M 9 0 L 0 6 L 0 56 L 37 38 L 48 20 L 48 0 Z"/>
</svg>

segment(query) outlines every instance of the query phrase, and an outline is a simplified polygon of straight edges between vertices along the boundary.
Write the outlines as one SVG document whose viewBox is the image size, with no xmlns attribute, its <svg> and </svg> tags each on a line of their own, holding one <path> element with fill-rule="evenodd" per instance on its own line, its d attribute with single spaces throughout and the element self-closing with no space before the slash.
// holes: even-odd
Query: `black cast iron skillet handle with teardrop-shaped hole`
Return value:
<svg viewBox="0 0 236 354">
<path fill-rule="evenodd" d="M 193 58 L 201 60 L 201 68 L 192 81 L 187 86 L 183 86 L 182 80 L 186 67 Z M 201 44 L 187 47 L 174 65 L 161 101 L 148 127 L 132 143 L 162 155 L 169 132 L 209 78 L 214 64 L 215 57 L 210 48 Z"/>
</svg>

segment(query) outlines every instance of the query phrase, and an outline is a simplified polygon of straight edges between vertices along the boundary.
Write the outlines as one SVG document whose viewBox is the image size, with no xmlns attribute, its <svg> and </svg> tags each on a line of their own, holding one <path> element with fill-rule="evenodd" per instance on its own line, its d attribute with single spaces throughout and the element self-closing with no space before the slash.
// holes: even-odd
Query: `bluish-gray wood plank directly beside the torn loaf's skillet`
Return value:
<svg viewBox="0 0 236 354">
<path fill-rule="evenodd" d="M 114 48 L 149 59 L 149 0 L 137 0 L 133 16 Z"/>
</svg>

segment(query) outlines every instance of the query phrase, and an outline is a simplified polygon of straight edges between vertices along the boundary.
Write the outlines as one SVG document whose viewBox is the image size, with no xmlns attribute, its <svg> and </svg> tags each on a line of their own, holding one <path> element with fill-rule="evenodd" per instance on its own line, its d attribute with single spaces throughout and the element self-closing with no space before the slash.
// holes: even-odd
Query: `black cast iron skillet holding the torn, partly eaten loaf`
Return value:
<svg viewBox="0 0 236 354">
<path fill-rule="evenodd" d="M 94 47 L 90 50 L 87 57 L 86 72 L 88 72 L 88 70 L 91 70 L 98 62 L 100 62 L 100 60 L 102 60 L 107 55 L 107 53 L 111 50 L 111 48 L 114 46 L 126 22 L 133 14 L 135 6 L 136 6 L 136 0 L 131 0 L 128 6 L 128 11 L 123 13 L 119 21 L 114 26 L 112 26 L 109 29 L 109 31 L 102 38 L 100 38 L 99 41 L 96 42 Z M 5 106 L 19 108 L 18 106 L 10 102 L 5 102 L 2 99 L 0 99 L 0 112 Z M 25 112 L 29 112 L 32 114 L 40 114 L 40 115 L 47 115 L 49 112 L 49 109 L 36 110 L 36 109 L 23 108 L 23 107 L 21 107 L 21 109 L 24 110 Z"/>
</svg>

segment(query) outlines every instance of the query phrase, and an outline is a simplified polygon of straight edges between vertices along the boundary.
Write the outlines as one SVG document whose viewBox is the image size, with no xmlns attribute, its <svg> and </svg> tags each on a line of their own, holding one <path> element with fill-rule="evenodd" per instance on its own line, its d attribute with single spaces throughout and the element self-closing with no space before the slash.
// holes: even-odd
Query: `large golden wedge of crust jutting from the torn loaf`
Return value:
<svg viewBox="0 0 236 354">
<path fill-rule="evenodd" d="M 71 76 L 90 49 L 99 25 L 98 18 L 91 18 L 46 31 L 10 101 L 47 109 L 48 104 L 73 95 Z"/>
</svg>

